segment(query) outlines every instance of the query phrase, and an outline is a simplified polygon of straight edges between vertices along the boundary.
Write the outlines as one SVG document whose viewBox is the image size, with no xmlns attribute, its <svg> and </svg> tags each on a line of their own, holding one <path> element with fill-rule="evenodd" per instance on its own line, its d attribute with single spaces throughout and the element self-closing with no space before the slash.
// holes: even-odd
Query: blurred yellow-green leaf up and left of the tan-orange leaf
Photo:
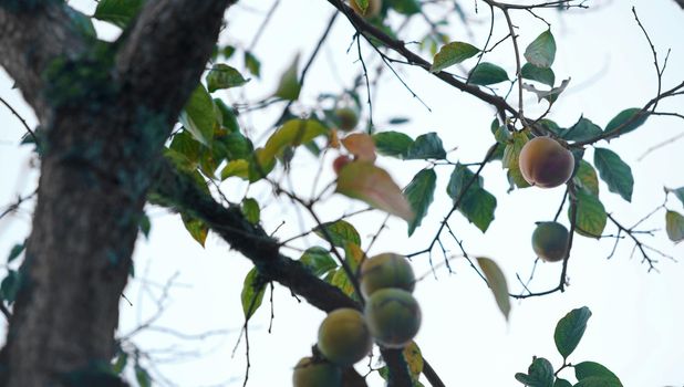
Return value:
<svg viewBox="0 0 684 387">
<path fill-rule="evenodd" d="M 315 119 L 290 119 L 273 133 L 259 154 L 261 165 L 268 165 L 286 147 L 299 146 L 328 133 L 328 128 Z"/>
</svg>

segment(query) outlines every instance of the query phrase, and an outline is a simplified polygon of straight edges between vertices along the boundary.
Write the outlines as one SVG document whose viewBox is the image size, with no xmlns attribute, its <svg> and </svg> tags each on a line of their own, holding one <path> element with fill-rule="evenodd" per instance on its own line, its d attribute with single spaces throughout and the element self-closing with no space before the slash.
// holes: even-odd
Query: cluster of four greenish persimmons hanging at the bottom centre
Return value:
<svg viewBox="0 0 684 387">
<path fill-rule="evenodd" d="M 342 369 L 366 357 L 376 342 L 403 348 L 421 327 L 421 307 L 413 297 L 415 274 L 403 255 L 383 253 L 361 263 L 359 287 L 363 311 L 334 310 L 319 327 L 313 356 L 294 367 L 294 387 L 341 387 Z"/>
</svg>

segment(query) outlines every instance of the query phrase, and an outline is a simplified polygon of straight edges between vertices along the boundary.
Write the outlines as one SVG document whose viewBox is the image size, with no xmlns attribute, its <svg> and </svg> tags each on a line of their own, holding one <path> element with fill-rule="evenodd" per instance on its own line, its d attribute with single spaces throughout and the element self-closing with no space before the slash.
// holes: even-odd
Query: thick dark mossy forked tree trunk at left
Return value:
<svg viewBox="0 0 684 387">
<path fill-rule="evenodd" d="M 0 63 L 44 128 L 1 385 L 105 383 L 153 166 L 232 2 L 151 1 L 104 48 L 61 1 L 0 2 Z"/>
</svg>

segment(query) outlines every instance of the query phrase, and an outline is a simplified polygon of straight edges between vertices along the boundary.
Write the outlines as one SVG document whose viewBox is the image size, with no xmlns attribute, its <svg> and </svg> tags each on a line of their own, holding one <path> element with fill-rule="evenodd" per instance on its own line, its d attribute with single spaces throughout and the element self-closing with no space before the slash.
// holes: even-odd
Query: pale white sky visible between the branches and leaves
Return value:
<svg viewBox="0 0 684 387">
<path fill-rule="evenodd" d="M 72 1 L 86 12 L 92 12 L 94 3 Z M 469 38 L 463 24 L 456 22 L 449 33 L 453 40 L 469 41 L 483 46 L 486 39 L 485 22 L 488 20 L 486 4 L 479 2 L 479 14 L 474 15 L 473 1 L 462 2 L 465 11 L 474 17 L 475 36 Z M 669 72 L 664 77 L 665 87 L 682 81 L 684 66 L 684 41 L 682 20 L 684 12 L 672 0 L 641 0 L 603 3 L 603 7 L 589 11 L 573 11 L 563 19 L 556 12 L 545 15 L 553 24 L 558 53 L 553 70 L 557 82 L 572 77 L 570 87 L 553 107 L 551 118 L 562 126 L 569 126 L 584 114 L 599 125 L 605 125 L 618 112 L 626 107 L 643 105 L 655 92 L 655 72 L 649 46 L 634 22 L 631 7 L 634 4 L 646 27 L 661 57 L 666 49 L 672 49 Z M 243 2 L 228 12 L 228 29 L 224 42 L 249 44 L 256 27 L 262 20 L 271 1 Z M 277 9 L 271 24 L 261 36 L 256 54 L 262 60 L 262 80 L 252 80 L 243 87 L 251 101 L 271 93 L 282 70 L 297 52 L 307 59 L 332 12 L 325 1 L 286 0 Z M 514 13 L 514 21 L 520 29 L 520 44 L 527 45 L 542 32 L 546 25 L 525 12 Z M 436 18 L 433 14 L 433 18 Z M 419 18 L 416 18 L 419 19 Z M 394 20 L 395 22 L 397 20 Z M 505 34 L 501 19 L 497 19 L 495 39 Z M 104 35 L 112 29 L 99 23 Z M 412 23 L 411 33 L 403 34 L 405 41 L 417 40 L 425 31 L 421 21 Z M 339 93 L 349 86 L 361 65 L 356 61 L 355 46 L 348 54 L 353 31 L 340 18 L 325 49 L 314 63 L 307 79 L 303 100 L 312 102 L 320 92 Z M 514 73 L 512 50 L 505 43 L 491 53 L 487 61 L 502 65 L 509 74 Z M 240 55 L 238 55 L 240 57 Z M 377 57 L 364 48 L 366 64 L 377 65 Z M 230 62 L 241 69 L 241 60 Z M 466 62 L 467 65 L 473 65 Z M 436 130 L 447 149 L 458 147 L 449 154 L 453 160 L 478 161 L 493 142 L 488 125 L 491 109 L 484 103 L 445 85 L 418 69 L 397 65 L 402 77 L 431 107 L 429 113 L 421 103 L 412 98 L 398 81 L 385 71 L 380 87 L 374 91 L 374 121 L 379 129 L 396 129 L 416 136 L 427 130 Z M 33 126 L 35 119 L 22 102 L 12 82 L 0 72 L 0 96 L 10 102 Z M 238 92 L 218 95 L 227 101 L 240 97 Z M 526 100 L 527 112 L 532 114 L 535 100 Z M 515 102 L 515 101 L 514 101 Z M 546 105 L 539 105 L 546 107 Z M 682 112 L 682 100 L 663 103 L 663 108 Z M 257 134 L 270 125 L 281 106 L 255 114 L 242 121 L 250 134 Z M 365 112 L 367 114 L 367 111 Z M 382 125 L 393 116 L 411 116 L 412 122 L 398 127 Z M 29 147 L 18 147 L 23 135 L 20 123 L 4 108 L 0 107 L 0 206 L 11 202 L 18 194 L 30 192 L 34 188 L 37 172 L 30 164 L 35 164 Z M 635 178 L 632 203 L 608 191 L 601 184 L 601 199 L 607 209 L 625 224 L 631 224 L 659 206 L 663 200 L 663 186 L 684 186 L 684 175 L 678 166 L 684 165 L 684 142 L 663 147 L 642 161 L 638 157 L 654 144 L 663 142 L 684 129 L 681 121 L 664 117 L 651 118 L 640 130 L 610 144 L 632 166 Z M 602 144 L 601 146 L 605 146 Z M 592 159 L 589 151 L 587 159 Z M 332 157 L 327 158 L 327 166 Z M 407 184 L 424 164 L 419 161 L 380 160 L 392 171 L 401 186 Z M 292 181 L 298 191 L 309 192 L 311 176 L 315 171 L 313 158 L 304 153 L 293 161 Z M 395 251 L 408 253 L 421 250 L 429 242 L 437 222 L 449 208 L 444 194 L 450 170 L 438 169 L 438 186 L 424 227 L 413 238 L 407 239 L 405 224 L 391 221 L 390 229 L 374 245 L 372 253 Z M 506 195 L 507 182 L 499 163 L 488 166 L 484 172 L 488 190 L 497 195 L 496 220 L 486 234 L 470 226 L 459 215 L 452 222 L 459 238 L 471 255 L 486 255 L 497 261 L 507 274 L 509 285 L 519 291 L 516 273 L 527 276 L 535 255 L 529 237 L 533 222 L 553 217 L 562 196 L 562 188 L 552 190 L 527 189 Z M 332 179 L 330 174 L 319 182 L 319 187 Z M 246 191 L 243 184 L 228 180 L 224 190 L 234 199 Z M 256 185 L 249 195 L 266 203 L 262 210 L 265 228 L 272 231 L 282 220 L 287 223 L 277 236 L 287 238 L 300 230 L 300 216 L 291 209 L 283 198 L 270 198 L 263 186 Z M 262 200 L 267 199 L 267 200 Z M 671 209 L 682 212 L 681 203 L 673 198 Z M 357 203 L 333 197 L 317 208 L 328 220 L 336 218 L 345 210 L 359 208 Z M 229 251 L 228 245 L 215 236 L 209 236 L 206 249 L 201 249 L 187 234 L 177 216 L 168 215 L 158 208 L 151 208 L 153 218 L 149 240 L 141 239 L 135 252 L 136 280 L 132 281 L 125 294 L 133 306 L 122 301 L 122 333 L 153 315 L 154 300 L 159 297 L 157 287 L 149 287 L 154 294 L 141 291 L 141 279 L 164 283 L 174 273 L 182 284 L 174 286 L 164 314 L 154 325 L 169 327 L 186 334 L 211 330 L 230 330 L 222 336 L 204 341 L 184 341 L 162 333 L 142 333 L 135 342 L 142 351 L 158 356 L 158 370 L 163 376 L 179 386 L 241 385 L 245 372 L 245 347 L 240 344 L 235 357 L 232 346 L 242 324 L 242 310 L 239 293 L 242 279 L 250 269 L 248 260 Z M 310 219 L 301 216 L 307 224 Z M 363 237 L 375 232 L 384 217 L 363 216 L 354 218 L 353 223 Z M 567 217 L 560 218 L 567 223 Z M 645 228 L 664 227 L 664 212 L 657 213 Z M 612 233 L 610 226 L 607 232 Z M 0 220 L 0 252 L 23 240 L 30 232 L 30 213 L 18 215 Z M 370 238 L 364 238 L 367 245 Z M 682 245 L 674 247 L 660 231 L 647 243 L 664 250 L 677 259 L 683 258 Z M 312 245 L 322 241 L 315 237 L 302 241 Z M 456 245 L 447 243 L 456 253 Z M 454 261 L 455 274 L 448 275 L 444 268 L 437 271 L 437 280 L 428 276 L 418 283 L 415 295 L 424 315 L 422 330 L 416 338 L 425 357 L 439 373 L 448 386 L 516 386 L 516 372 L 527 369 L 532 355 L 547 357 L 556 367 L 561 358 L 553 345 L 556 322 L 568 311 L 581 305 L 589 306 L 593 316 L 590 320 L 582 343 L 570 360 L 598 360 L 611 368 L 628 387 L 681 386 L 684 384 L 684 310 L 681 295 L 684 294 L 684 268 L 661 259 L 660 273 L 646 273 L 647 266 L 640 263 L 636 254 L 630 259 L 633 244 L 621 241 L 613 259 L 605 260 L 612 248 L 612 240 L 597 242 L 582 237 L 576 238 L 569 278 L 570 286 L 563 294 L 553 294 L 524 302 L 514 302 L 510 321 L 507 323 L 496 307 L 494 299 L 484 282 L 463 261 Z M 296 251 L 286 251 L 296 258 Z M 438 249 L 433 259 L 442 260 Z M 427 257 L 417 258 L 417 273 L 429 266 Z M 531 286 L 546 290 L 558 282 L 560 266 L 541 264 Z M 309 354 L 315 343 L 318 325 L 323 313 L 305 303 L 298 303 L 287 289 L 276 286 L 273 302 L 276 320 L 273 332 L 266 331 L 269 325 L 268 293 L 263 306 L 251 322 L 250 328 L 250 386 L 289 385 L 291 367 Z M 155 352 L 165 349 L 168 352 Z M 182 356 L 184 352 L 187 357 Z M 195 355 L 201 356 L 195 356 Z M 164 360 L 166 359 L 166 360 Z M 359 365 L 360 370 L 365 364 Z M 563 374 L 561 374 L 563 375 Z M 568 375 L 568 374 L 566 374 Z M 372 385 L 380 386 L 377 378 Z M 157 381 L 162 381 L 157 379 Z M 520 385 L 521 386 L 521 385 Z"/>
</svg>

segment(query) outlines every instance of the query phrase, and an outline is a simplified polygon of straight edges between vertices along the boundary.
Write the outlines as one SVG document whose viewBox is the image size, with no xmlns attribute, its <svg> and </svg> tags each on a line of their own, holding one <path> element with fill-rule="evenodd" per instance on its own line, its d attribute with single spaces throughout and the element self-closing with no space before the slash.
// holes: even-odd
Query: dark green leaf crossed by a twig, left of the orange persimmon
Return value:
<svg viewBox="0 0 684 387">
<path fill-rule="evenodd" d="M 457 164 L 446 187 L 447 195 L 456 201 L 474 176 L 475 174 L 467 167 Z M 497 201 L 494 195 L 481 188 L 481 176 L 478 176 L 468 190 L 463 194 L 463 198 L 458 205 L 458 211 L 465 216 L 469 222 L 485 232 L 494 220 L 494 211 Z"/>
</svg>

